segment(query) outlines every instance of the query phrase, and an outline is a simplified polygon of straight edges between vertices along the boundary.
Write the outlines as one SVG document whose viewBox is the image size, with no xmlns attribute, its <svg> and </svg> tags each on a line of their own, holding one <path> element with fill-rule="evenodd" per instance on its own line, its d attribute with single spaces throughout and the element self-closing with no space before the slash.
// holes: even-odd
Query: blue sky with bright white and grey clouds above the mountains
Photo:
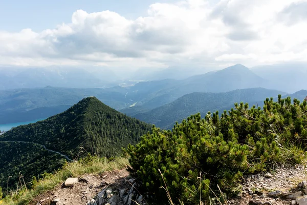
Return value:
<svg viewBox="0 0 307 205">
<path fill-rule="evenodd" d="M 304 61 L 306 11 L 306 0 L 1 0 L 0 65 Z"/>
</svg>

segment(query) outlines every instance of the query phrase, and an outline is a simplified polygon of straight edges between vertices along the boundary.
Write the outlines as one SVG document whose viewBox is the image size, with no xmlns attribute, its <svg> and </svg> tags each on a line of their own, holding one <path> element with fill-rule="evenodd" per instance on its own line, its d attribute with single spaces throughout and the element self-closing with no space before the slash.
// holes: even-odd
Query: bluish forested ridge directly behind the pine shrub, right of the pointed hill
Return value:
<svg viewBox="0 0 307 205">
<path fill-rule="evenodd" d="M 278 94 L 285 95 L 286 93 L 264 88 L 239 89 L 225 93 L 196 92 L 184 95 L 170 104 L 132 116 L 155 124 L 157 127 L 171 129 L 175 121 L 181 121 L 191 114 L 200 112 L 202 115 L 206 115 L 208 111 L 220 111 L 222 113 L 224 110 L 232 108 L 234 103 L 240 101 L 250 101 L 253 105 L 258 103 L 258 106 L 262 106 L 262 99 Z M 294 96 L 303 99 L 301 96 L 304 95 L 307 95 L 307 91 L 302 91 L 299 96 Z"/>
</svg>

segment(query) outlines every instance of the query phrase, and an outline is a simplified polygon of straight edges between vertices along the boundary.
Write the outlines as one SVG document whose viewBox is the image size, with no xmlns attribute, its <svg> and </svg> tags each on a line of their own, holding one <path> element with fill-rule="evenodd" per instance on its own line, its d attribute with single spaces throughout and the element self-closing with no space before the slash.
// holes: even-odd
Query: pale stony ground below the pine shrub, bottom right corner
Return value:
<svg viewBox="0 0 307 205">
<path fill-rule="evenodd" d="M 281 167 L 274 173 L 247 175 L 236 199 L 228 204 L 307 205 L 307 169 L 305 166 Z"/>
</svg>

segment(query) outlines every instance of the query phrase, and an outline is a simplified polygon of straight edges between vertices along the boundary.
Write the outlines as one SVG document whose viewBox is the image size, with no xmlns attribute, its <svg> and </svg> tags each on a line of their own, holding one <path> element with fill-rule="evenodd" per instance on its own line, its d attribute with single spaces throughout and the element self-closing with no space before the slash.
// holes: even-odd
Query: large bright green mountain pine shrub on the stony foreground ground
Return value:
<svg viewBox="0 0 307 205">
<path fill-rule="evenodd" d="M 217 191 L 229 191 L 243 173 L 255 173 L 278 163 L 297 163 L 307 146 L 307 106 L 291 98 L 264 101 L 249 109 L 235 104 L 230 111 L 191 115 L 172 131 L 153 126 L 152 133 L 129 145 L 129 171 L 141 178 L 155 198 L 165 199 L 164 181 L 171 198 L 184 204 L 207 201 Z M 218 193 L 218 191 L 217 191 Z"/>
</svg>

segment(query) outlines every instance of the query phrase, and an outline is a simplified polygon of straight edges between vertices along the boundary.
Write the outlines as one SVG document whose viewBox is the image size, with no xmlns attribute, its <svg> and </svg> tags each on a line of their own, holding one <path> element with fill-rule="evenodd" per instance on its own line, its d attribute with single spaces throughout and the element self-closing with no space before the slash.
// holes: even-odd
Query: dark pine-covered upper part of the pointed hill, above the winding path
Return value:
<svg viewBox="0 0 307 205">
<path fill-rule="evenodd" d="M 67 111 L 34 124 L 13 128 L 0 140 L 30 141 L 75 156 L 79 147 L 103 156 L 135 144 L 151 126 L 87 97 Z"/>
</svg>

